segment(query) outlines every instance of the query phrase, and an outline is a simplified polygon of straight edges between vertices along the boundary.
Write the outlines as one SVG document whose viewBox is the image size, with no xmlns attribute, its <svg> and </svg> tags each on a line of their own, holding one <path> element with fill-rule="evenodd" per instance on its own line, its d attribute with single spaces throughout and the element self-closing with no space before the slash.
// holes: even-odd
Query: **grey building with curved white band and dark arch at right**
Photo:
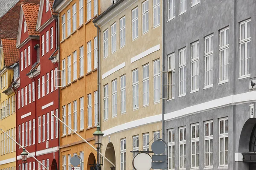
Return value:
<svg viewBox="0 0 256 170">
<path fill-rule="evenodd" d="M 166 0 L 163 15 L 169 169 L 256 170 L 256 1 Z"/>
</svg>

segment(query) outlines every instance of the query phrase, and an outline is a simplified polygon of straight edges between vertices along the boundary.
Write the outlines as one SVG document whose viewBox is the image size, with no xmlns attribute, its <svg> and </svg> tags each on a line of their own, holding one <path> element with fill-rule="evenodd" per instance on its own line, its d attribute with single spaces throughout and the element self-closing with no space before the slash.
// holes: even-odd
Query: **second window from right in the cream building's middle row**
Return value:
<svg viewBox="0 0 256 170">
<path fill-rule="evenodd" d="M 149 64 L 142 68 L 143 75 L 143 106 L 149 105 Z"/>
</svg>

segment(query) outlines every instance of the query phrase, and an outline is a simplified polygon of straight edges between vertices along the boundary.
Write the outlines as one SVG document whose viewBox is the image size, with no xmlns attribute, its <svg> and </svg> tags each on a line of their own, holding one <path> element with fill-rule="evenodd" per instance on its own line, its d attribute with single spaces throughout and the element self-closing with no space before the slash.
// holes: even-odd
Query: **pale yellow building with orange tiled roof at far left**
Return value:
<svg viewBox="0 0 256 170">
<path fill-rule="evenodd" d="M 0 128 L 13 139 L 16 138 L 16 95 L 12 83 L 19 75 L 19 53 L 15 46 L 15 39 L 2 38 L 0 46 Z M 16 170 L 15 151 L 15 142 L 0 131 L 1 170 Z"/>
</svg>

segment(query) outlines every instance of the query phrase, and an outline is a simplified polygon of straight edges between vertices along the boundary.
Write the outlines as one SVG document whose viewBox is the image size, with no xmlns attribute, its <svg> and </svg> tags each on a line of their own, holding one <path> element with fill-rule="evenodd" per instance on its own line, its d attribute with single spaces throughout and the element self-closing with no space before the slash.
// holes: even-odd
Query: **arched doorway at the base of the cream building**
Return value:
<svg viewBox="0 0 256 170">
<path fill-rule="evenodd" d="M 105 152 L 106 158 L 108 158 L 113 164 L 116 164 L 116 155 L 115 155 L 115 148 L 111 142 L 108 143 L 106 147 L 106 152 Z M 111 167 L 113 165 L 109 163 L 108 161 L 104 161 L 104 170 L 111 170 Z"/>
</svg>

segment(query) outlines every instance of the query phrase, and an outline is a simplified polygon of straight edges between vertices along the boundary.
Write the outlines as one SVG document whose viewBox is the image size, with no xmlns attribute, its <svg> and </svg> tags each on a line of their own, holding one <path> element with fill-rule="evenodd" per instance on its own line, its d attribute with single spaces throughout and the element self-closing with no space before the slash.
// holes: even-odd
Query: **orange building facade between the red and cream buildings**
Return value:
<svg viewBox="0 0 256 170">
<path fill-rule="evenodd" d="M 92 20 L 98 16 L 98 0 L 63 0 L 53 5 L 59 15 L 59 91 L 60 119 L 94 144 L 97 111 L 97 29 Z M 75 154 L 82 169 L 96 163 L 96 151 L 60 123 L 59 167 L 71 167 Z"/>
</svg>

